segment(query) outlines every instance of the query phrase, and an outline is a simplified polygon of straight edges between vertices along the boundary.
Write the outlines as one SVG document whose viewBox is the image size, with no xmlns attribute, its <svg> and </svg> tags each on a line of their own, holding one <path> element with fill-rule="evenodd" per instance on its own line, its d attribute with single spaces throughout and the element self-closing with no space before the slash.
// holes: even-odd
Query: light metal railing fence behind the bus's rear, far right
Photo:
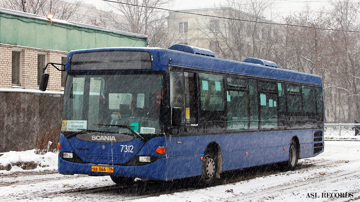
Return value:
<svg viewBox="0 0 360 202">
<path fill-rule="evenodd" d="M 354 136 L 355 126 L 360 127 L 360 124 L 354 123 L 325 123 L 325 136 Z"/>
</svg>

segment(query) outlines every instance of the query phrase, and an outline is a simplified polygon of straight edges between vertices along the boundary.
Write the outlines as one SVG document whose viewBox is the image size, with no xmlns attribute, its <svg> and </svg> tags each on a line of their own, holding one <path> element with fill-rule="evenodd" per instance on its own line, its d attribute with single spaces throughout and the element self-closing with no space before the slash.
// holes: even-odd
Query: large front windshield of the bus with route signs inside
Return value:
<svg viewBox="0 0 360 202">
<path fill-rule="evenodd" d="M 161 74 L 69 74 L 62 133 L 163 133 L 162 86 Z"/>
</svg>

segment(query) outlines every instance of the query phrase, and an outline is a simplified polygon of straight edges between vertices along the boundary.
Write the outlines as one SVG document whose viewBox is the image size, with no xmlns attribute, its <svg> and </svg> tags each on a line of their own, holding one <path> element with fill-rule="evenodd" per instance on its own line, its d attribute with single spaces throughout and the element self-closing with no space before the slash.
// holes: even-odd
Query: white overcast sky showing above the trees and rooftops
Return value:
<svg viewBox="0 0 360 202">
<path fill-rule="evenodd" d="M 101 7 L 104 1 L 102 0 L 83 0 L 84 3 L 94 4 L 97 7 Z M 306 5 L 309 5 L 312 10 L 316 10 L 321 6 L 328 6 L 328 0 L 273 0 L 275 2 L 278 12 L 284 16 L 290 12 L 301 11 Z M 220 6 L 225 3 L 226 0 L 175 0 L 175 4 L 172 10 L 198 8 L 198 7 L 211 7 Z"/>
</svg>

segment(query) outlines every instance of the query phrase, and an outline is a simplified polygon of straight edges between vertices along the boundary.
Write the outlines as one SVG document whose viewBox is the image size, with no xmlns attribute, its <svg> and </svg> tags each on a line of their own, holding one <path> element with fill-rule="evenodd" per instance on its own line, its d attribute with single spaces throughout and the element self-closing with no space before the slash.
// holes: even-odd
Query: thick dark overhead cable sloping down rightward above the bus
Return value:
<svg viewBox="0 0 360 202">
<path fill-rule="evenodd" d="M 312 29 L 322 29 L 322 30 L 328 30 L 328 31 L 341 31 L 341 32 L 356 32 L 356 33 L 360 33 L 360 31 L 351 31 L 351 30 L 343 30 L 343 29 L 330 29 L 330 28 L 321 28 L 321 27 L 310 27 L 310 26 L 305 26 L 305 25 L 285 24 L 285 23 L 274 23 L 274 22 L 260 22 L 260 21 L 237 19 L 237 18 L 227 18 L 227 17 L 214 16 L 214 15 L 205 15 L 205 14 L 198 14 L 198 13 L 189 13 L 189 12 L 184 12 L 184 11 L 179 11 L 179 10 L 170 10 L 170 9 L 165 9 L 165 8 L 155 8 L 155 7 L 151 7 L 151 6 L 142 6 L 142 5 L 122 3 L 122 2 L 111 1 L 111 0 L 102 0 L 102 1 L 108 1 L 108 2 L 112 2 L 112 3 L 118 3 L 118 4 L 125 4 L 125 5 L 130 5 L 130 6 L 138 6 L 138 7 L 143 7 L 143 8 L 152 8 L 152 9 L 166 10 L 166 11 L 176 12 L 176 13 L 186 13 L 186 14 L 200 15 L 200 16 L 204 16 L 204 17 L 213 17 L 213 18 L 221 18 L 221 19 L 228 19 L 228 20 L 239 20 L 239 21 L 244 21 L 244 22 L 253 22 L 253 23 L 262 23 L 262 24 L 275 24 L 275 25 L 282 25 L 282 26 L 303 27 L 303 28 L 312 28 Z"/>
</svg>

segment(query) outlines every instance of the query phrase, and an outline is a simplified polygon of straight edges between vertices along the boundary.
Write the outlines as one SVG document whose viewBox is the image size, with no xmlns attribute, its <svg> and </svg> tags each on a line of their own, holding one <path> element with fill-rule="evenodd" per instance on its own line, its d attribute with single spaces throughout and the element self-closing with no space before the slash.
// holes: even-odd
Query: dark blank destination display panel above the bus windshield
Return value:
<svg viewBox="0 0 360 202">
<path fill-rule="evenodd" d="M 152 69 L 146 51 L 96 51 L 75 53 L 70 70 L 132 70 Z"/>
</svg>

